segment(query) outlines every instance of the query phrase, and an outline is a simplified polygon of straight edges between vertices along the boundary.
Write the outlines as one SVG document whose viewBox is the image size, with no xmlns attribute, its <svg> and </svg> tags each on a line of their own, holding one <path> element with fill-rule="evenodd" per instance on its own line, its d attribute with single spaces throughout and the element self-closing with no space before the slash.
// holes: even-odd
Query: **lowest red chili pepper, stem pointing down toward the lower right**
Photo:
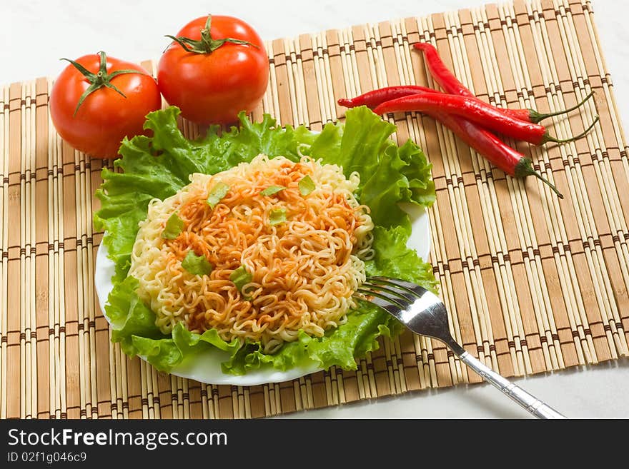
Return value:
<svg viewBox="0 0 629 469">
<path fill-rule="evenodd" d="M 535 176 L 548 184 L 559 198 L 563 198 L 562 193 L 548 179 L 545 179 L 538 171 L 535 171 L 530 158 L 507 146 L 490 131 L 485 130 L 476 123 L 466 121 L 458 116 L 452 116 L 451 114 L 434 112 L 427 114 L 440 121 L 447 128 L 450 128 L 462 141 L 474 148 L 475 151 L 502 169 L 502 171 L 505 171 L 509 176 L 515 178 Z"/>
</svg>

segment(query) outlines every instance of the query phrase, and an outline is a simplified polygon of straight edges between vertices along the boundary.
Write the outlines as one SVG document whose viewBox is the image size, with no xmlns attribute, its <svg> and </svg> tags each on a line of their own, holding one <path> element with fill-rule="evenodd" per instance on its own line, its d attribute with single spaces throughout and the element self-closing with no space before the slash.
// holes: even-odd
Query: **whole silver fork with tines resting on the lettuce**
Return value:
<svg viewBox="0 0 629 469">
<path fill-rule="evenodd" d="M 415 283 L 396 278 L 369 277 L 358 289 L 367 300 L 384 309 L 411 331 L 436 338 L 456 353 L 482 379 L 495 385 L 537 418 L 565 418 L 534 395 L 483 365 L 460 346 L 448 327 L 447 311 L 438 296 Z"/>
</svg>

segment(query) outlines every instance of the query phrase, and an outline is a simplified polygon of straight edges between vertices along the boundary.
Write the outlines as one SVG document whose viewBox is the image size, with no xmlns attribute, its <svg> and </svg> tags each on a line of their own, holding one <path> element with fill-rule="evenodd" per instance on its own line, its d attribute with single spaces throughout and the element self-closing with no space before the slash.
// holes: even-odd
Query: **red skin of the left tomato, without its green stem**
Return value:
<svg viewBox="0 0 629 469">
<path fill-rule="evenodd" d="M 97 73 L 97 54 L 82 56 L 76 61 Z M 162 108 L 162 97 L 155 79 L 137 64 L 107 57 L 107 73 L 116 70 L 137 70 L 142 74 L 120 74 L 111 83 L 114 89 L 102 87 L 83 101 L 76 115 L 74 110 L 89 81 L 73 65 L 57 77 L 50 93 L 50 115 L 59 136 L 79 151 L 97 158 L 117 158 L 120 142 L 127 136 L 144 133 L 145 116 Z"/>
</svg>

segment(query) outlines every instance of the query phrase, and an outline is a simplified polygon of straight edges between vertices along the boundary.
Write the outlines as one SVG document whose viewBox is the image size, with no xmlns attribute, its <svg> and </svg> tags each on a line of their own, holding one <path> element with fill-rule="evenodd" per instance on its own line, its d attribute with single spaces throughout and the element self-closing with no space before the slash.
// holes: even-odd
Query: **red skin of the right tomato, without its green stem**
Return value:
<svg viewBox="0 0 629 469">
<path fill-rule="evenodd" d="M 190 21 L 177 36 L 201 39 L 207 16 Z M 190 121 L 233 123 L 239 111 L 253 111 L 269 82 L 269 58 L 262 39 L 249 24 L 232 16 L 212 15 L 212 39 L 233 38 L 247 44 L 224 43 L 209 54 L 187 52 L 173 42 L 157 67 L 164 99 Z"/>
</svg>

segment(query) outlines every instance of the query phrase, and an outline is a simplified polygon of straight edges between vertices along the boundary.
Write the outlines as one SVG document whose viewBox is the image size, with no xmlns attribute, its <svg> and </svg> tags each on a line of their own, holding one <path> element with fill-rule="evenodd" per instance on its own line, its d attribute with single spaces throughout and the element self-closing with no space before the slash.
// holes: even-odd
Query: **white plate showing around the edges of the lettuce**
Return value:
<svg viewBox="0 0 629 469">
<path fill-rule="evenodd" d="M 405 204 L 404 210 L 409 213 L 412 221 L 412 234 L 407 245 L 417 251 L 417 255 L 427 260 L 430 254 L 430 225 L 428 223 L 428 214 L 424 208 Z M 96 253 L 96 268 L 94 273 L 94 284 L 96 286 L 96 295 L 99 298 L 101 311 L 105 311 L 105 303 L 107 297 L 112 291 L 112 276 L 114 276 L 114 262 L 107 257 L 107 248 L 101 243 Z M 107 316 L 105 316 L 107 318 Z M 107 318 L 109 321 L 109 318 Z M 171 373 L 181 376 L 182 378 L 190 378 L 208 384 L 231 384 L 251 386 L 264 383 L 279 383 L 282 381 L 293 380 L 321 368 L 314 361 L 307 366 L 292 368 L 287 371 L 274 370 L 271 367 L 252 370 L 246 375 L 227 375 L 221 370 L 221 362 L 229 358 L 227 352 L 220 351 L 217 348 L 209 348 L 207 351 L 198 353 L 179 363 Z"/>
</svg>

